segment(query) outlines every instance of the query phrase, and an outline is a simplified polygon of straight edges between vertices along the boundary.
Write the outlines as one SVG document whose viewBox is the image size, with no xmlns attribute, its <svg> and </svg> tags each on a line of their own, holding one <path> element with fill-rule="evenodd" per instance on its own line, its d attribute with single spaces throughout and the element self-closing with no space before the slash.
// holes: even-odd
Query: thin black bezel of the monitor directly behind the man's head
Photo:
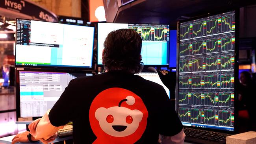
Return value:
<svg viewBox="0 0 256 144">
<path fill-rule="evenodd" d="M 111 23 L 111 24 L 149 24 L 149 23 L 125 23 L 125 22 L 124 23 L 122 23 L 122 22 L 117 22 L 117 23 L 115 23 L 115 22 L 98 22 L 97 23 L 97 66 L 98 67 L 103 67 L 104 66 L 103 64 L 98 64 L 98 56 L 99 56 L 98 55 L 98 50 L 99 50 L 98 49 L 98 24 L 99 23 L 102 23 L 102 24 L 109 24 L 109 23 Z M 153 24 L 155 24 L 155 23 L 153 23 Z M 170 24 L 162 24 L 162 25 L 169 25 L 169 31 L 170 31 Z M 169 46 L 167 48 L 167 55 L 168 55 L 167 63 L 168 63 L 168 65 L 144 65 L 144 66 L 169 67 L 169 62 L 170 62 L 169 52 L 170 52 L 170 44 L 169 44 Z M 102 55 L 100 55 L 100 57 L 102 57 Z"/>
</svg>

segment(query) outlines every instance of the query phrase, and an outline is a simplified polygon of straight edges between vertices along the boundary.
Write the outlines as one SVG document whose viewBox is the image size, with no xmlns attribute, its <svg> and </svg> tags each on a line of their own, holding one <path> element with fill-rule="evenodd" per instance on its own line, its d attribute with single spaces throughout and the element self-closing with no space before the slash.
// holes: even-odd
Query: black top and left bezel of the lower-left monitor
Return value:
<svg viewBox="0 0 256 144">
<path fill-rule="evenodd" d="M 54 70 L 50 68 L 15 68 L 15 90 L 16 90 L 16 120 L 17 122 L 19 121 L 19 118 L 24 118 L 20 117 L 20 78 L 19 78 L 19 72 L 20 71 L 30 71 L 30 72 L 65 72 L 65 73 L 77 73 L 77 74 L 93 74 L 92 71 L 81 71 L 81 70 Z M 32 120 L 36 120 L 37 118 L 41 118 L 42 116 L 39 117 L 32 117 Z"/>
</svg>

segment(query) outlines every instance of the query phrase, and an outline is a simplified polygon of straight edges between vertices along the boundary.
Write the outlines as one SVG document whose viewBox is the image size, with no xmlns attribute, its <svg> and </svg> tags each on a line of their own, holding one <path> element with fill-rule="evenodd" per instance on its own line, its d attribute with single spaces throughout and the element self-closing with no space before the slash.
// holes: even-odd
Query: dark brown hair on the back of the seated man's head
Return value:
<svg viewBox="0 0 256 144">
<path fill-rule="evenodd" d="M 142 69 L 140 35 L 130 29 L 111 31 L 104 42 L 102 61 L 108 70 L 125 70 L 133 74 Z"/>
</svg>

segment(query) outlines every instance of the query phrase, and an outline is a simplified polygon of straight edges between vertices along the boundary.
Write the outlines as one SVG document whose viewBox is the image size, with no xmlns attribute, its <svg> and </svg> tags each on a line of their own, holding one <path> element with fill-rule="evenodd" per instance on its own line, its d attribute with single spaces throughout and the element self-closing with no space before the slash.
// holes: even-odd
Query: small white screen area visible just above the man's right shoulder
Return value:
<svg viewBox="0 0 256 144">
<path fill-rule="evenodd" d="M 167 95 L 170 98 L 170 90 L 163 84 L 163 82 L 161 81 L 158 73 L 141 72 L 141 73 L 139 73 L 137 75 L 141 76 L 144 79 L 147 79 L 149 81 L 153 81 L 153 82 L 158 83 L 159 85 L 163 86 L 163 88 L 165 89 Z"/>
</svg>

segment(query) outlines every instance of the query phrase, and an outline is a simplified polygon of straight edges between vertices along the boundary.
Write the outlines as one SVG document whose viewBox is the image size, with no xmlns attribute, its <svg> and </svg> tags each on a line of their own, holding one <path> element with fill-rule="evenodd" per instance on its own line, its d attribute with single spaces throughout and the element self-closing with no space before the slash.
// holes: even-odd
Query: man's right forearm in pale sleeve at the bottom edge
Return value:
<svg viewBox="0 0 256 144">
<path fill-rule="evenodd" d="M 183 144 L 185 137 L 186 137 L 186 135 L 185 135 L 183 129 L 182 129 L 182 131 L 180 131 L 180 133 L 178 133 L 177 135 L 174 135 L 172 137 L 168 137 L 168 136 L 159 134 L 159 139 L 160 139 L 161 144 Z"/>
</svg>

